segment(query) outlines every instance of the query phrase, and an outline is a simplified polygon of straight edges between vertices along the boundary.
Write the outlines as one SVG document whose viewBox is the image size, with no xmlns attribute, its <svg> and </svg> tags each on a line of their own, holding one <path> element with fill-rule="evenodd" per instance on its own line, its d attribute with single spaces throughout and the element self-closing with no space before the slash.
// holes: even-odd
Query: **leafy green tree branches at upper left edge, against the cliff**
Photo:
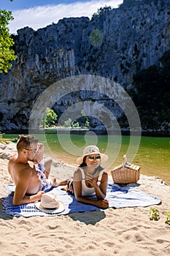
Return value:
<svg viewBox="0 0 170 256">
<path fill-rule="evenodd" d="M 8 69 L 12 67 L 11 61 L 17 59 L 15 51 L 12 49 L 15 42 L 10 36 L 9 28 L 7 27 L 9 20 L 13 20 L 12 12 L 0 10 L 0 73 L 7 73 Z"/>
</svg>

